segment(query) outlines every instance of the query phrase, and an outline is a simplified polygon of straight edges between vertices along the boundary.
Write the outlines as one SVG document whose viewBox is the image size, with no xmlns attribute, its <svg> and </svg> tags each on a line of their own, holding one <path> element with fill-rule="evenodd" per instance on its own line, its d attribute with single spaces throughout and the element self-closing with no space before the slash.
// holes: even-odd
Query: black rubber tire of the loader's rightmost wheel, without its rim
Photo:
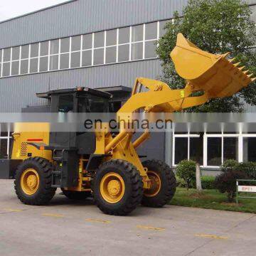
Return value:
<svg viewBox="0 0 256 256">
<path fill-rule="evenodd" d="M 176 191 L 176 177 L 170 166 L 159 160 L 147 160 L 142 163 L 149 171 L 155 171 L 161 178 L 161 188 L 156 196 L 143 196 L 142 205 L 162 207 L 171 201 Z"/>
</svg>

